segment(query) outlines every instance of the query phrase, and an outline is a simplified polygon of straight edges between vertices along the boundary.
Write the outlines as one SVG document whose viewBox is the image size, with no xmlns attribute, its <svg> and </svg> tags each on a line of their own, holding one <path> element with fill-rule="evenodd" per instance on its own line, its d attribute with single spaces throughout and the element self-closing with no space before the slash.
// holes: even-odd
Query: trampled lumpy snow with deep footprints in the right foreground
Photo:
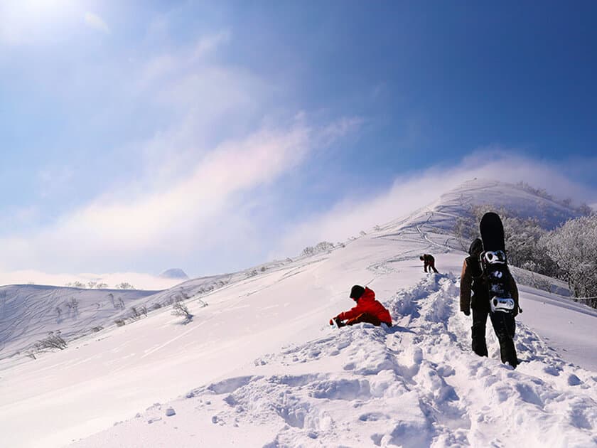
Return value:
<svg viewBox="0 0 597 448">
<path fill-rule="evenodd" d="M 333 331 L 262 356 L 254 375 L 164 407 L 193 412 L 228 437 L 262 427 L 267 448 L 596 446 L 597 375 L 563 361 L 521 324 L 515 341 L 527 362 L 517 370 L 500 363 L 491 330 L 490 358 L 475 356 L 470 317 L 456 311 L 457 282 L 430 275 L 389 300 L 390 329 Z M 163 418 L 162 405 L 137 417 L 143 431 Z"/>
</svg>

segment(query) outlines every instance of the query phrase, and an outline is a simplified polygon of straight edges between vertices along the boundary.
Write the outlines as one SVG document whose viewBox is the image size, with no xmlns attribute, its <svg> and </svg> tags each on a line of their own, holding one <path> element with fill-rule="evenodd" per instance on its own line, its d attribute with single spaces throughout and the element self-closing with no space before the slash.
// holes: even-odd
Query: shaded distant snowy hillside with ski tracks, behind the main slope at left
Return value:
<svg viewBox="0 0 597 448">
<path fill-rule="evenodd" d="M 0 363 L 4 358 L 36 354 L 35 343 L 50 331 L 60 331 L 65 341 L 71 341 L 115 326 L 117 319 L 133 320 L 134 309 L 145 309 L 151 314 L 178 299 L 207 300 L 216 289 L 283 265 L 284 262 L 270 262 L 235 274 L 188 280 L 157 292 L 32 284 L 0 287 Z"/>
</svg>

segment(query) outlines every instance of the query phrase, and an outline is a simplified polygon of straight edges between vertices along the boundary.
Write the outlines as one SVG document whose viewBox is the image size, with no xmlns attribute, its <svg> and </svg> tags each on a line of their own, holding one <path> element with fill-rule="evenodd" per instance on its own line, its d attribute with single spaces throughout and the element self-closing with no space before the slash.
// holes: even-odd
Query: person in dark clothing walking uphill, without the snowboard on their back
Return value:
<svg viewBox="0 0 597 448">
<path fill-rule="evenodd" d="M 490 312 L 489 286 L 483 276 L 483 270 L 479 263 L 481 252 L 483 252 L 483 242 L 480 238 L 477 238 L 470 244 L 468 249 L 469 256 L 464 259 L 461 274 L 461 311 L 466 316 L 470 316 L 470 309 L 473 309 L 473 326 L 471 327 L 473 351 L 478 356 L 488 356 L 487 343 L 485 342 L 485 325 L 487 324 L 487 316 L 489 314 L 495 336 L 500 341 L 500 358 L 502 358 L 502 363 L 509 363 L 510 366 L 516 367 L 518 359 L 513 338 L 516 329 L 514 318 L 519 310 L 518 288 L 512 275 L 508 273 L 508 284 L 512 299 L 515 302 L 514 312 L 512 314 L 501 311 Z"/>
</svg>

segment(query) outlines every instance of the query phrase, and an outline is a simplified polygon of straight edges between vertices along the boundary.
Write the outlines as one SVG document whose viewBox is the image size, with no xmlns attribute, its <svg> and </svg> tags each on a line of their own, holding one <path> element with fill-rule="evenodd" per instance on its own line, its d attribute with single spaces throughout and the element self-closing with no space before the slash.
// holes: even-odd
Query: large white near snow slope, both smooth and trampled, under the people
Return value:
<svg viewBox="0 0 597 448">
<path fill-rule="evenodd" d="M 475 200 L 484 192 L 518 194 L 485 184 Z M 490 356 L 475 356 L 458 311 L 465 254 L 437 230 L 437 208 L 332 252 L 144 299 L 196 294 L 190 324 L 158 309 L 35 361 L 5 360 L 2 445 L 595 447 L 597 311 L 521 287 L 525 362 L 500 363 L 490 324 Z M 424 252 L 441 274 L 422 272 Z M 329 328 L 355 283 L 375 290 L 395 326 Z"/>
</svg>

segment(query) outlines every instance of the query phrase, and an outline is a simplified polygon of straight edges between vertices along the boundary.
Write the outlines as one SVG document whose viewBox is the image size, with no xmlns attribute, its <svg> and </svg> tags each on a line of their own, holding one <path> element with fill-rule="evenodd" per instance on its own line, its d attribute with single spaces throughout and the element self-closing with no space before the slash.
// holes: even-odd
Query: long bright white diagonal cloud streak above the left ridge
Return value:
<svg viewBox="0 0 597 448">
<path fill-rule="evenodd" d="M 197 233 L 214 220 L 236 219 L 234 208 L 243 196 L 301 163 L 312 133 L 296 123 L 225 142 L 167 188 L 139 193 L 139 186 L 131 184 L 105 193 L 38 233 L 0 239 L 3 253 L 17 265 L 32 266 L 47 264 L 56 254 L 56 264 L 77 265 L 97 256 L 184 250 L 196 245 Z M 215 238 L 225 241 L 226 235 Z"/>
</svg>

